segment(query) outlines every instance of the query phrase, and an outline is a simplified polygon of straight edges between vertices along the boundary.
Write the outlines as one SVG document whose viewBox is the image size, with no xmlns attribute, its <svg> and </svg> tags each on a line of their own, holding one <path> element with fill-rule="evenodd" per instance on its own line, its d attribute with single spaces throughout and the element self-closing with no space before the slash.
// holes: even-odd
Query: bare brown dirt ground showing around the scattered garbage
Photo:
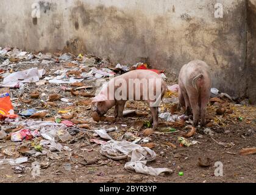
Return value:
<svg viewBox="0 0 256 195">
<path fill-rule="evenodd" d="M 48 65 L 41 64 L 23 64 L 13 66 L 13 71 L 22 71 L 32 67 L 46 69 L 46 76 L 52 75 L 56 70 L 79 68 L 79 66 L 71 66 L 66 63 L 50 63 Z M 7 70 L 7 69 L 5 69 Z M 10 68 L 8 68 L 8 71 Z M 90 71 L 90 68 L 85 69 Z M 177 83 L 171 75 L 166 74 L 168 85 Z M 85 85 L 93 85 L 95 80 L 84 80 Z M 61 86 L 70 87 L 70 84 L 49 84 L 36 86 L 35 83 L 27 83 L 27 87 L 23 91 L 23 99 L 29 99 L 31 91 L 37 89 L 41 96 L 33 99 L 32 102 L 24 103 L 18 99 L 17 89 L 11 89 L 15 112 L 27 110 L 29 108 L 37 108 L 38 110 L 47 110 L 48 115 L 43 120 L 52 120 L 58 115 L 59 110 L 69 110 L 76 113 L 73 119 L 82 119 L 87 121 L 91 130 L 81 130 L 70 141 L 61 143 L 62 146 L 68 146 L 72 151 L 50 152 L 54 155 L 40 155 L 38 157 L 29 156 L 29 161 L 23 163 L 26 171 L 23 173 L 15 173 L 15 166 L 0 165 L 0 182 L 256 182 L 256 155 L 240 155 L 241 149 L 256 146 L 256 107 L 249 105 L 235 105 L 228 102 L 227 107 L 233 110 L 233 113 L 224 113 L 216 115 L 216 107 L 208 104 L 207 122 L 212 120 L 213 124 L 209 128 L 213 131 L 213 135 L 207 135 L 203 129 L 197 128 L 196 134 L 188 138 L 190 141 L 198 141 L 190 147 L 180 146 L 177 137 L 182 132 L 186 132 L 185 126 L 175 127 L 176 131 L 170 132 L 166 121 L 159 119 L 160 125 L 156 132 L 149 135 L 150 143 L 154 143 L 152 150 L 157 154 L 155 161 L 148 162 L 148 166 L 154 168 L 169 168 L 173 170 L 172 174 L 163 174 L 160 176 L 147 176 L 137 174 L 133 171 L 124 169 L 125 160 L 111 160 L 100 154 L 101 146 L 92 143 L 91 138 L 102 140 L 94 135 L 93 129 L 108 129 L 110 127 L 118 127 L 118 130 L 108 133 L 114 140 L 121 140 L 126 132 L 131 132 L 136 137 L 143 138 L 143 130 L 147 127 L 141 126 L 144 121 L 148 121 L 150 116 L 149 107 L 145 102 L 127 102 L 126 109 L 137 110 L 138 113 L 144 115 L 126 116 L 121 121 L 115 122 L 95 122 L 91 118 L 91 109 L 88 105 L 80 105 L 79 101 L 89 100 L 81 96 L 73 96 L 70 91 L 62 90 Z M 89 89 L 94 94 L 94 88 Z M 43 93 L 45 95 L 43 96 Z M 48 94 L 58 93 L 63 98 L 68 98 L 74 106 L 67 105 L 65 102 L 56 101 L 55 107 L 51 105 L 43 105 L 46 102 Z M 175 97 L 175 94 L 166 94 L 169 97 Z M 168 97 L 168 98 L 169 98 Z M 16 99 L 15 99 L 16 98 Z M 69 107 L 69 108 L 68 108 Z M 163 110 L 170 110 L 172 114 L 182 115 L 182 110 L 177 110 L 173 104 L 163 103 Z M 113 116 L 113 108 L 107 114 Z M 240 118 L 242 117 L 242 118 Z M 26 119 L 21 117 L 20 120 Z M 72 120 L 71 120 L 72 121 Z M 140 122 L 138 122 L 140 121 Z M 188 123 L 189 124 L 189 123 Z M 5 122 L 1 122 L 1 126 L 7 126 Z M 37 142 L 41 138 L 34 138 Z M 0 160 L 4 158 L 23 157 L 23 154 L 17 152 L 21 146 L 31 147 L 32 140 L 24 140 L 22 142 L 12 142 L 10 140 L 0 140 Z M 132 140 L 128 140 L 132 141 Z M 172 147 L 174 144 L 176 148 Z M 220 144 L 221 143 L 221 144 Z M 8 156 L 4 154 L 4 149 L 13 148 L 15 154 Z M 26 154 L 25 154 L 26 155 Z M 197 165 L 198 158 L 205 160 L 210 158 L 210 166 L 202 167 Z M 85 164 L 85 159 L 97 159 L 91 165 Z M 40 176 L 33 178 L 31 174 L 31 166 L 34 161 L 40 163 Z M 223 164 L 223 176 L 216 177 L 215 162 L 220 161 Z M 179 176 L 179 172 L 183 172 L 183 176 Z"/>
</svg>

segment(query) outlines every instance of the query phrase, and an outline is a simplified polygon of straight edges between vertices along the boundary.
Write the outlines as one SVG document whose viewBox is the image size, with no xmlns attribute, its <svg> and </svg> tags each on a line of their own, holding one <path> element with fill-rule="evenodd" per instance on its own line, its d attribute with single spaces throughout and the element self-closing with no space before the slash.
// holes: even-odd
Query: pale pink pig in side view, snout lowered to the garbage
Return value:
<svg viewBox="0 0 256 195">
<path fill-rule="evenodd" d="M 92 102 L 96 102 L 99 116 L 105 115 L 115 105 L 115 118 L 121 118 L 127 100 L 147 101 L 152 114 L 150 122 L 153 122 L 152 129 L 155 130 L 158 124 L 158 105 L 165 94 L 165 88 L 160 75 L 154 71 L 138 69 L 110 79 Z"/>
</svg>

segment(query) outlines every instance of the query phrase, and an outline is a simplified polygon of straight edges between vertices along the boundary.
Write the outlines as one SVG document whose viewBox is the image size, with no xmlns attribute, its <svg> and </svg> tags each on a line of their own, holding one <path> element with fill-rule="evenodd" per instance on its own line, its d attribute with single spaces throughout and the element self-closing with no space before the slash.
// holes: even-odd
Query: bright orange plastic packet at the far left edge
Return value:
<svg viewBox="0 0 256 195">
<path fill-rule="evenodd" d="M 0 94 L 0 115 L 8 118 L 16 118 L 16 115 L 13 115 L 13 107 L 9 93 Z"/>
</svg>

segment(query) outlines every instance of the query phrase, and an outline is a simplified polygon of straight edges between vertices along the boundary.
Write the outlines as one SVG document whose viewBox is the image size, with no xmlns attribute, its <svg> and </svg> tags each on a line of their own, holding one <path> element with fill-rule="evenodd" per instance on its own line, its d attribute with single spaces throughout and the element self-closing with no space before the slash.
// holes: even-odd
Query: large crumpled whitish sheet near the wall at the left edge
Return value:
<svg viewBox="0 0 256 195">
<path fill-rule="evenodd" d="M 38 82 L 44 74 L 44 69 L 30 68 L 5 77 L 0 86 L 19 88 L 22 83 Z"/>
</svg>

